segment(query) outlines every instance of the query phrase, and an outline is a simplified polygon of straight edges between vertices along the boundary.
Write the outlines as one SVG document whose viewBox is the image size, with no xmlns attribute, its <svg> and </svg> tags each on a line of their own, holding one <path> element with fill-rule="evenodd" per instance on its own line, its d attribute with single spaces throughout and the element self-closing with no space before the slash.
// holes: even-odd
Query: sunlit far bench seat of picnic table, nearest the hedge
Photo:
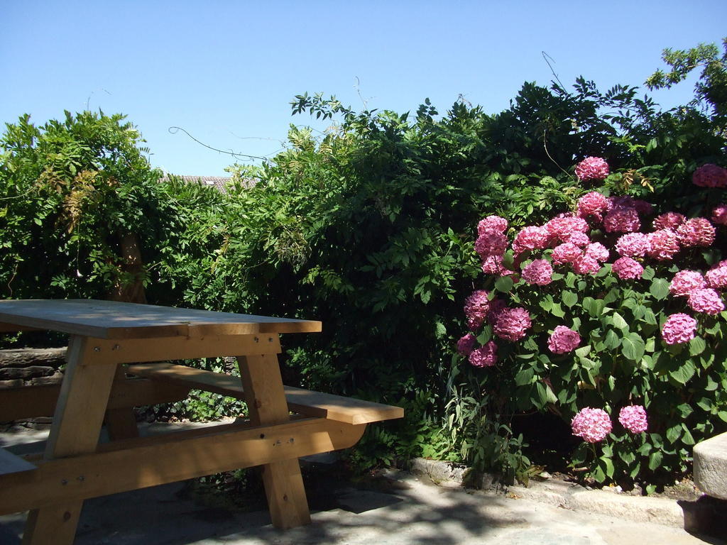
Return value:
<svg viewBox="0 0 727 545">
<path fill-rule="evenodd" d="M 126 372 L 148 379 L 158 378 L 184 382 L 206 392 L 244 399 L 241 380 L 237 376 L 212 373 L 212 371 L 177 366 L 172 363 L 140 363 L 127 366 Z M 382 420 L 399 419 L 404 413 L 403 408 L 393 405 L 383 405 L 291 386 L 285 387 L 285 397 L 288 408 L 292 412 L 346 424 L 369 424 Z"/>
</svg>

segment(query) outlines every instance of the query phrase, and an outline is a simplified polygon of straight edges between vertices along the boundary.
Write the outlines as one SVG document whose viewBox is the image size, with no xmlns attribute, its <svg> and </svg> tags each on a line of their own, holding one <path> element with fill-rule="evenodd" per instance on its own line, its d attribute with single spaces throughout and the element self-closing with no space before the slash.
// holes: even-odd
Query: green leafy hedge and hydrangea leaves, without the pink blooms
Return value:
<svg viewBox="0 0 727 545">
<path fill-rule="evenodd" d="M 696 166 L 723 162 L 723 60 L 708 48 L 687 53 L 684 62 L 666 59 L 675 76 L 650 84 L 670 84 L 696 55 L 706 63 L 697 97 L 715 115 L 694 105 L 664 112 L 635 87 L 601 92 L 585 78 L 573 89 L 523 84 L 496 115 L 461 101 L 440 114 L 428 99 L 414 113 L 356 112 L 302 94 L 292 113 L 330 120 L 329 129 L 314 137 L 292 126 L 273 161 L 230 167 L 228 193 L 160 179 L 123 116 L 67 114 L 41 127 L 25 116 L 0 141 L 0 290 L 103 298 L 134 280 L 120 246 L 134 233 L 149 302 L 322 320 L 322 334 L 284 339 L 286 382 L 407 408 L 406 420 L 371 427 L 351 455 L 356 464 L 433 456 L 526 479 L 534 457 L 523 449 L 534 441 L 520 436 L 514 414 L 557 411 L 567 420 L 584 403 L 608 399 L 615 410 L 648 396 L 666 416 L 643 444 L 615 432 L 610 451 L 580 459 L 603 480 L 683 468 L 689 442 L 727 421 L 723 322 L 702 323 L 681 351 L 663 347 L 655 331 L 672 304 L 664 267 L 625 288 L 608 270 L 561 273 L 559 291 L 510 278 L 489 286 L 542 311 L 539 339 L 565 320 L 578 328 L 587 343 L 569 364 L 530 339 L 503 347 L 514 365 L 483 379 L 453 368 L 451 353 L 480 274 L 474 226 L 489 214 L 518 229 L 573 211 L 595 188 L 577 183 L 574 158 L 608 158 L 612 174 L 598 187 L 606 195 L 690 215 L 720 202 L 720 193 L 685 187 Z M 725 254 L 720 246 L 690 259 Z M 483 331 L 480 341 L 491 336 Z M 205 396 L 174 410 L 203 418 L 242 410 Z"/>
</svg>

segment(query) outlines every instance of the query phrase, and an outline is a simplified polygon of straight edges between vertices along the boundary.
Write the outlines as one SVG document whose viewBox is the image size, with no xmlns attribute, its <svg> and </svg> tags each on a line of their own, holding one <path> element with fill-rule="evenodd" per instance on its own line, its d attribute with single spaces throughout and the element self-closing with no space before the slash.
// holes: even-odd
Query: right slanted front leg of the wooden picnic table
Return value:
<svg viewBox="0 0 727 545">
<path fill-rule="evenodd" d="M 274 354 L 238 357 L 242 386 L 253 424 L 281 424 L 289 420 L 278 357 Z M 300 464 L 297 459 L 262 467 L 270 518 L 276 528 L 310 524 Z"/>
</svg>

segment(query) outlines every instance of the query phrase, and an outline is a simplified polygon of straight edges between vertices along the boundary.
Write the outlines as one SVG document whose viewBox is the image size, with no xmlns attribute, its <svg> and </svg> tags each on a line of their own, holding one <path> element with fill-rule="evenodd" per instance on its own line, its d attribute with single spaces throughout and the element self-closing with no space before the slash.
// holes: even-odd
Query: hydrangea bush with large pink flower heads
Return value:
<svg viewBox="0 0 727 545">
<path fill-rule="evenodd" d="M 594 157 L 575 171 L 609 174 Z M 462 364 L 494 413 L 561 416 L 582 439 L 573 467 L 599 483 L 653 489 L 727 429 L 727 206 L 710 205 L 727 170 L 706 164 L 692 182 L 702 206 L 688 211 L 602 189 L 545 225 L 477 228 L 485 282 L 465 303 Z"/>
</svg>

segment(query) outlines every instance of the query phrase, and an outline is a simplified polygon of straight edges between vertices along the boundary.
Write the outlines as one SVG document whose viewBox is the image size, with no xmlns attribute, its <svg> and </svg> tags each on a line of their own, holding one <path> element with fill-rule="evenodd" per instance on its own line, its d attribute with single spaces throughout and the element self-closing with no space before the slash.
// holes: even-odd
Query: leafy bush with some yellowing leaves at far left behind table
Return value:
<svg viewBox="0 0 727 545">
<path fill-rule="evenodd" d="M 156 243 L 156 181 L 124 116 L 23 116 L 0 140 L 0 293 L 105 297 L 124 278 L 121 238 Z M 148 271 L 140 273 L 148 281 Z"/>
</svg>

